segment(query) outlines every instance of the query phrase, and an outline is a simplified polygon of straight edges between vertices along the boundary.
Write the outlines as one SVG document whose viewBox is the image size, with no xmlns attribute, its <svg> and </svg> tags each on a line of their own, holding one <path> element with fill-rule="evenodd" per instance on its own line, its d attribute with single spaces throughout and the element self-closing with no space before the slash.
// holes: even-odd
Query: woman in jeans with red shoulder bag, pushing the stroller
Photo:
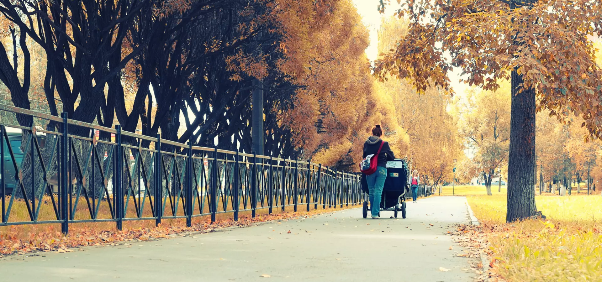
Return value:
<svg viewBox="0 0 602 282">
<path fill-rule="evenodd" d="M 366 158 L 368 155 L 378 154 L 376 172 L 366 176 L 372 219 L 380 218 L 380 199 L 382 197 L 383 186 L 385 186 L 386 162 L 395 159 L 389 143 L 380 139 L 380 136 L 382 136 L 382 128 L 380 128 L 380 125 L 377 125 L 372 129 L 372 136 L 368 137 L 364 143 L 364 156 L 362 156 L 362 158 Z"/>
</svg>

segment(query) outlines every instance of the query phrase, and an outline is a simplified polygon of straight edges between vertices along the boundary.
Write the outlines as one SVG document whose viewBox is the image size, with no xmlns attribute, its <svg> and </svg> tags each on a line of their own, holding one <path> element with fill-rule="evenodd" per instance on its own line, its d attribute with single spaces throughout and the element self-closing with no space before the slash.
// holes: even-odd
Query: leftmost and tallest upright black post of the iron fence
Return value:
<svg viewBox="0 0 602 282">
<path fill-rule="evenodd" d="M 58 192 L 60 194 L 59 206 L 61 207 L 61 220 L 63 221 L 61 222 L 61 231 L 63 232 L 63 234 L 67 234 L 69 233 L 69 213 L 67 209 L 67 204 L 69 204 L 69 201 L 67 201 L 67 191 L 69 189 L 69 175 L 67 174 L 67 156 L 69 155 L 69 131 L 67 131 L 67 124 L 69 123 L 67 119 L 68 115 L 66 112 L 63 112 L 61 114 L 61 117 L 63 117 L 63 136 L 61 136 L 61 150 L 59 155 L 59 162 L 61 163 L 61 185 L 59 187 L 60 189 Z M 2 162 L 4 162 L 4 159 Z M 2 179 L 4 179 L 4 177 L 2 177 Z"/>
</svg>

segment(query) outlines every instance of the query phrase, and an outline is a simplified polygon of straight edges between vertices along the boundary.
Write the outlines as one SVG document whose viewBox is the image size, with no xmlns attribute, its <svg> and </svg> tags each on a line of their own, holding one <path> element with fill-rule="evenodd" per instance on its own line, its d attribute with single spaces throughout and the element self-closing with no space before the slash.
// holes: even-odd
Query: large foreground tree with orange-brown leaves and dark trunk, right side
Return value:
<svg viewBox="0 0 602 282">
<path fill-rule="evenodd" d="M 388 2 L 380 1 L 380 9 Z M 527 218 L 536 211 L 536 111 L 582 116 L 590 133 L 602 135 L 602 73 L 586 37 L 602 28 L 601 6 L 589 0 L 404 1 L 396 11 L 409 19 L 408 35 L 374 71 L 380 79 L 411 78 L 419 91 L 435 85 L 452 93 L 447 72 L 454 67 L 468 75 L 465 82 L 486 90 L 509 79 L 506 221 Z"/>
</svg>

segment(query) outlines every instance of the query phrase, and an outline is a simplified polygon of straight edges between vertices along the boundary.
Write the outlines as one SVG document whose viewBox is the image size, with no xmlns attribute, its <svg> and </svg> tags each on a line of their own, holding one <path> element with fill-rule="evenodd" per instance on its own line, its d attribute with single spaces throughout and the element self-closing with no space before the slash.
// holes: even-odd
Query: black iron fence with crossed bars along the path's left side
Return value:
<svg viewBox="0 0 602 282">
<path fill-rule="evenodd" d="M 310 210 L 361 203 L 357 174 L 182 144 L 0 105 L 0 226 Z M 8 117 L 7 117 L 8 114 Z M 12 116 L 11 116 L 12 115 Z M 17 125 L 29 119 L 33 126 Z M 47 130 L 43 129 L 43 126 Z"/>
</svg>

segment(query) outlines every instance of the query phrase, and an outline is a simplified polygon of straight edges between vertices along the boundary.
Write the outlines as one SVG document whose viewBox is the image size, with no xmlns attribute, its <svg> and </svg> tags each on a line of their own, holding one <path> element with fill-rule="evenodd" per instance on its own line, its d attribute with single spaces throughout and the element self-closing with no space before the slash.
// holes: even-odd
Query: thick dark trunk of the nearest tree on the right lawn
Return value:
<svg viewBox="0 0 602 282">
<path fill-rule="evenodd" d="M 506 222 L 535 215 L 535 90 L 512 70 Z M 521 93 L 519 91 L 523 89 Z"/>
</svg>

